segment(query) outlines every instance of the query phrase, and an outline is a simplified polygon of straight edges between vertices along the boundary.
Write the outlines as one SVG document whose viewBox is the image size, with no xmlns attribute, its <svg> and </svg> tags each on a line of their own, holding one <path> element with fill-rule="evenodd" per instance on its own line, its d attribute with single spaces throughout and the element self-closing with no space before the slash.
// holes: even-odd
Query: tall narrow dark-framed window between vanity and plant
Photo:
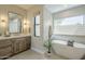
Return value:
<svg viewBox="0 0 85 64">
<path fill-rule="evenodd" d="M 40 15 L 34 16 L 34 36 L 40 36 Z"/>
</svg>

